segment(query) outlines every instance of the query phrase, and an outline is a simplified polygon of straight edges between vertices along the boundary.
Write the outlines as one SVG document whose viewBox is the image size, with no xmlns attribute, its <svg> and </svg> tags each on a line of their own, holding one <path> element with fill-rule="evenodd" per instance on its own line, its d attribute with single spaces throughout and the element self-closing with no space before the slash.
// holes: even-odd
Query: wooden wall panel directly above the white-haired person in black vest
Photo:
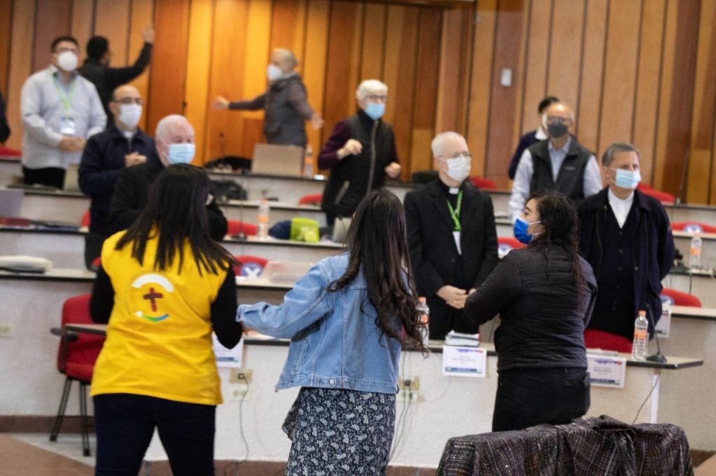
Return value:
<svg viewBox="0 0 716 476">
<path fill-rule="evenodd" d="M 360 81 L 383 78 L 387 13 L 386 5 L 367 4 L 364 7 Z"/>
</svg>

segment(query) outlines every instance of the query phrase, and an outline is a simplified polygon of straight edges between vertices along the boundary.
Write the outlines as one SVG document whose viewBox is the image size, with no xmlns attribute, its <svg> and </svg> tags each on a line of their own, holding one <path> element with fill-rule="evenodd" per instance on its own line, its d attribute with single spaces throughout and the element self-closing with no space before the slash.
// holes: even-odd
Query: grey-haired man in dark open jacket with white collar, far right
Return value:
<svg viewBox="0 0 716 476">
<path fill-rule="evenodd" d="M 674 237 L 662 204 L 637 190 L 639 151 L 611 144 L 601 159 L 609 187 L 579 205 L 581 254 L 599 292 L 587 329 L 631 340 L 639 310 L 652 324 L 662 316 L 662 279 L 674 259 Z"/>
</svg>

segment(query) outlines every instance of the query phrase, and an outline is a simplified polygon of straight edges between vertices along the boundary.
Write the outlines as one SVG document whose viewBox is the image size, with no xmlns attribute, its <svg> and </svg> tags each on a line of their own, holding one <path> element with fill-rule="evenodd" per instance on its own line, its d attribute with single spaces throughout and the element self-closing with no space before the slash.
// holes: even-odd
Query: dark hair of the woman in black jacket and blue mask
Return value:
<svg viewBox="0 0 716 476">
<path fill-rule="evenodd" d="M 535 234 L 529 247 L 538 249 L 549 264 L 548 249 L 554 244 L 563 247 L 574 274 L 578 302 L 582 299 L 584 274 L 579 262 L 579 217 L 574 203 L 560 192 L 535 192 L 527 199 L 537 202 L 541 232 Z"/>
</svg>

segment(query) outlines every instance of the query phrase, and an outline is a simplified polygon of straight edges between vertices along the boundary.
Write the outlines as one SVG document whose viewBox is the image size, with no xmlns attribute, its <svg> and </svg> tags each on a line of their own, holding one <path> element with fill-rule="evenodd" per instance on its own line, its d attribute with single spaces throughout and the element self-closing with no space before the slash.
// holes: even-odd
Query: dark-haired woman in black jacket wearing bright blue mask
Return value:
<svg viewBox="0 0 716 476">
<path fill-rule="evenodd" d="M 559 192 L 532 194 L 515 236 L 528 246 L 505 256 L 465 303 L 480 324 L 500 314 L 493 431 L 569 423 L 589 409 L 584 327 L 596 281 L 579 256 L 574 204 Z"/>
</svg>

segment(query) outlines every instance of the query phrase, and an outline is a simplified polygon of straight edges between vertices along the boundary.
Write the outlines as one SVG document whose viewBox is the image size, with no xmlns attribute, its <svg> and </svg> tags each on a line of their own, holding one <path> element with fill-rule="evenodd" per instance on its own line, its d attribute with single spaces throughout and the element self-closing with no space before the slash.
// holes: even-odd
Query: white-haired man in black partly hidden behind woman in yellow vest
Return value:
<svg viewBox="0 0 716 476">
<path fill-rule="evenodd" d="M 155 133 L 158 158 L 122 170 L 110 204 L 110 228 L 113 232 L 130 227 L 147 204 L 151 184 L 165 167 L 188 164 L 194 158 L 194 128 L 184 116 L 170 114 L 157 124 Z M 209 232 L 216 241 L 226 235 L 226 218 L 213 196 L 206 199 Z"/>
</svg>

